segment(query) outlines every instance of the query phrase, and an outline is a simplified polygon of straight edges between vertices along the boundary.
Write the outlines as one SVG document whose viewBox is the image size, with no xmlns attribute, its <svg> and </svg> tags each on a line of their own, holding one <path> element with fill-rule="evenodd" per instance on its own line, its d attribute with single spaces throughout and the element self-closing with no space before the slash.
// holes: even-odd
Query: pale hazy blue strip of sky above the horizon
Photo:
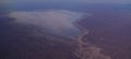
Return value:
<svg viewBox="0 0 131 59">
<path fill-rule="evenodd" d="M 0 2 L 87 2 L 87 3 L 131 3 L 131 0 L 0 0 Z"/>
</svg>

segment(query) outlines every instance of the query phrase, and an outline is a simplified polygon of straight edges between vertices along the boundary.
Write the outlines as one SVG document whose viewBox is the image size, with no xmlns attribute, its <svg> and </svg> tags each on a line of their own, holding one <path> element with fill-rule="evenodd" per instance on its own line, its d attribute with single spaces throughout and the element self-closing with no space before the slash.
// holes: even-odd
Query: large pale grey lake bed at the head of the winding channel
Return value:
<svg viewBox="0 0 131 59">
<path fill-rule="evenodd" d="M 71 12 L 66 10 L 48 11 L 17 11 L 10 13 L 17 23 L 37 25 L 49 32 L 59 35 L 74 35 L 81 31 L 72 22 L 80 19 L 83 13 Z"/>
</svg>

